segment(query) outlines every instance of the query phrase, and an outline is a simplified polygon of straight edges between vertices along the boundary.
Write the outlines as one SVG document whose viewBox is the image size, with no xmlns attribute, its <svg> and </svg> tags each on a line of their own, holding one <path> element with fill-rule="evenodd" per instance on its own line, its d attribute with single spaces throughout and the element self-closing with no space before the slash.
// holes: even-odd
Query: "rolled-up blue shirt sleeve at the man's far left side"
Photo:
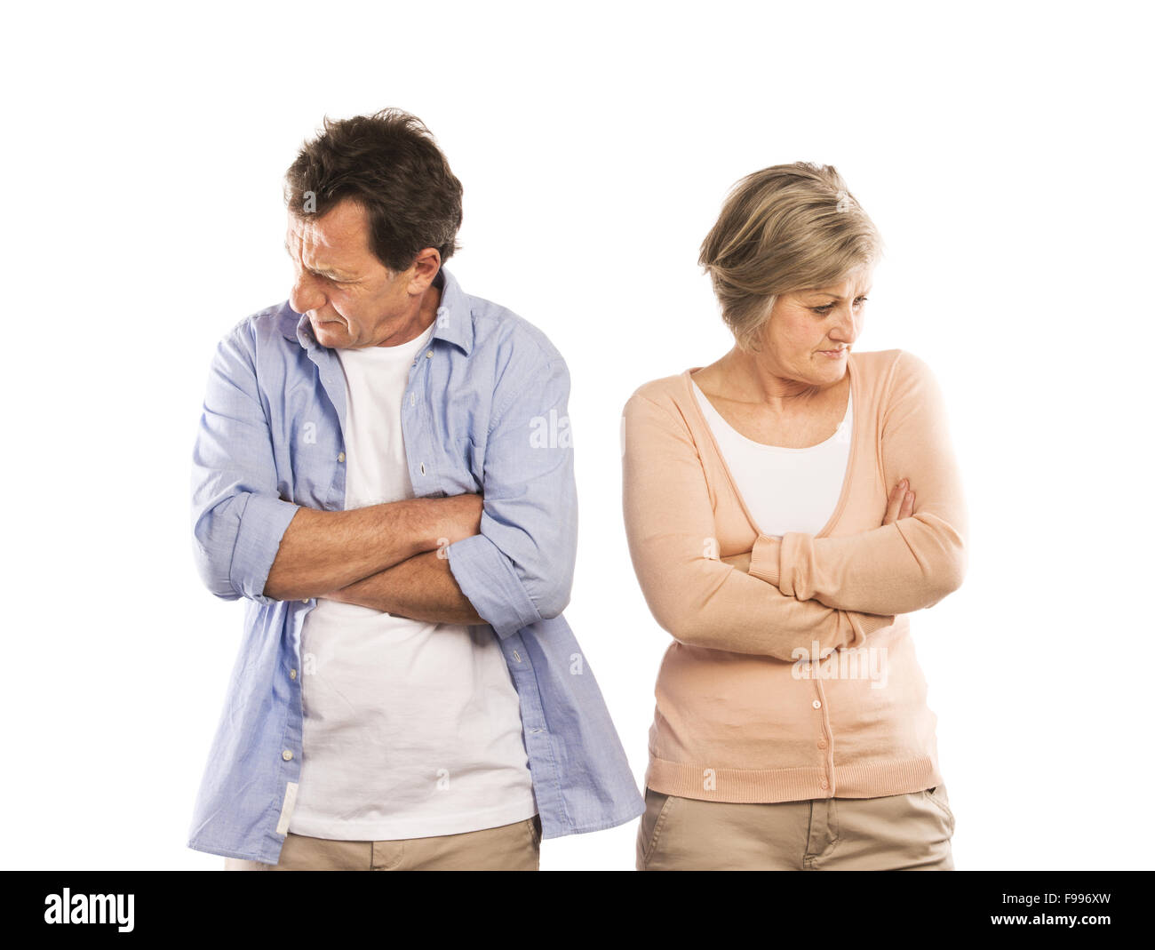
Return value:
<svg viewBox="0 0 1155 950">
<path fill-rule="evenodd" d="M 273 602 L 264 582 L 298 505 L 277 491 L 247 324 L 222 340 L 213 358 L 193 448 L 192 499 L 193 551 L 204 586 L 225 600 Z"/>
</svg>

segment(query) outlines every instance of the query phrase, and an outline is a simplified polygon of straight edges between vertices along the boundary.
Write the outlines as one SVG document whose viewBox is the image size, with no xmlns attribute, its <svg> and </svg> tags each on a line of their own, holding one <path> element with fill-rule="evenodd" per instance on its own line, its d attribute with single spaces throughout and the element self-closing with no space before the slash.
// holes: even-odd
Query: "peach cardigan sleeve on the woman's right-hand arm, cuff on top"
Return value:
<svg viewBox="0 0 1155 950">
<path fill-rule="evenodd" d="M 881 422 L 886 490 L 910 480 L 909 518 L 858 534 L 760 536 L 751 574 L 798 600 L 842 610 L 907 614 L 956 591 L 967 572 L 967 509 L 946 406 L 930 366 L 900 351 Z"/>
</svg>

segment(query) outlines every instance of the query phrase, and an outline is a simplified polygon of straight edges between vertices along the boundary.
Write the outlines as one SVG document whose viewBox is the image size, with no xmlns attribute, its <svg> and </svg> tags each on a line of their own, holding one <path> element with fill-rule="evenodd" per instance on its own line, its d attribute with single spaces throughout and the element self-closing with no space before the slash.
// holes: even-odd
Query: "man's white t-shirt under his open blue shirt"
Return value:
<svg viewBox="0 0 1155 950">
<path fill-rule="evenodd" d="M 432 333 L 336 350 L 348 393 L 346 510 L 415 497 L 401 401 Z M 304 748 L 291 832 L 426 838 L 537 812 L 517 692 L 487 628 L 319 599 L 300 652 Z"/>
</svg>

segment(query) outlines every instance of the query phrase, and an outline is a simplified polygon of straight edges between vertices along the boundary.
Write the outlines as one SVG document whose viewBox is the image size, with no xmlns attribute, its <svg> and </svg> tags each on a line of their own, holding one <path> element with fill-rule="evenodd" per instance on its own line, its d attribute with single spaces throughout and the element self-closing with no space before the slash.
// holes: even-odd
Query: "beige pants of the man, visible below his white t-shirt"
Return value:
<svg viewBox="0 0 1155 950">
<path fill-rule="evenodd" d="M 336 841 L 285 837 L 276 864 L 226 858 L 225 870 L 538 870 L 542 819 L 437 838 Z"/>
</svg>

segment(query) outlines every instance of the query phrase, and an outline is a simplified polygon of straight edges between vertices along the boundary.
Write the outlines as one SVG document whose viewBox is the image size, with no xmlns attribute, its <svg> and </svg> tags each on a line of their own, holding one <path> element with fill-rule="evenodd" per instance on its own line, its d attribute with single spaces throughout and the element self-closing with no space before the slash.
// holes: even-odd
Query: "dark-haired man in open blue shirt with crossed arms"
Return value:
<svg viewBox="0 0 1155 950">
<path fill-rule="evenodd" d="M 644 803 L 561 615 L 566 364 L 467 295 L 461 185 L 400 110 L 286 175 L 289 300 L 213 362 L 196 562 L 247 598 L 188 845 L 230 869 L 532 869 Z"/>
</svg>

